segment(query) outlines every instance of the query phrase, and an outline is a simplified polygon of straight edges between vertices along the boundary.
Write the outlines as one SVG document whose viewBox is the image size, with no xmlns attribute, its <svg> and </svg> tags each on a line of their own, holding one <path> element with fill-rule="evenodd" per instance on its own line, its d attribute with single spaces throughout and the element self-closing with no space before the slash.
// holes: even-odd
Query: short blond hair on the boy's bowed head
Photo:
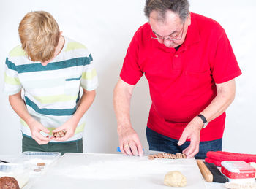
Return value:
<svg viewBox="0 0 256 189">
<path fill-rule="evenodd" d="M 59 26 L 50 13 L 34 11 L 21 20 L 18 33 L 26 56 L 31 61 L 48 61 L 53 58 L 59 43 Z"/>
</svg>

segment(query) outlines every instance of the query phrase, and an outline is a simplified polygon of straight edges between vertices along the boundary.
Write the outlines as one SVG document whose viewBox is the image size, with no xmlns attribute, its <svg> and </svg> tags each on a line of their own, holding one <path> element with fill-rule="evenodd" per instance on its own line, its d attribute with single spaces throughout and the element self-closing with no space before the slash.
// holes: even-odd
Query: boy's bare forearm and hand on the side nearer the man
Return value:
<svg viewBox="0 0 256 189">
<path fill-rule="evenodd" d="M 83 88 L 83 95 L 80 99 L 80 103 L 78 104 L 78 109 L 76 110 L 75 114 L 72 115 L 72 117 L 69 120 L 67 120 L 67 122 L 65 122 L 62 126 L 53 130 L 54 133 L 65 130 L 65 136 L 61 138 L 52 138 L 53 140 L 67 141 L 67 139 L 69 139 L 75 134 L 75 129 L 77 128 L 81 117 L 83 117 L 83 115 L 86 113 L 89 107 L 91 107 L 91 104 L 95 99 L 95 96 L 95 90 L 88 91 Z"/>
</svg>

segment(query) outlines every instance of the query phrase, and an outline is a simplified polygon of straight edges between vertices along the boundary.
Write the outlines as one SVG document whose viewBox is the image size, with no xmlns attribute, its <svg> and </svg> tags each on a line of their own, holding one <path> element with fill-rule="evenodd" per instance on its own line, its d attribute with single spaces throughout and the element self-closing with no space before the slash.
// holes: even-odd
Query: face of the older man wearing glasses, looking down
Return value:
<svg viewBox="0 0 256 189">
<path fill-rule="evenodd" d="M 181 45 L 186 38 L 190 16 L 184 22 L 176 13 L 167 11 L 165 20 L 159 20 L 159 12 L 152 11 L 149 15 L 149 23 L 152 37 L 156 37 L 156 40 L 166 47 L 175 48 Z"/>
</svg>

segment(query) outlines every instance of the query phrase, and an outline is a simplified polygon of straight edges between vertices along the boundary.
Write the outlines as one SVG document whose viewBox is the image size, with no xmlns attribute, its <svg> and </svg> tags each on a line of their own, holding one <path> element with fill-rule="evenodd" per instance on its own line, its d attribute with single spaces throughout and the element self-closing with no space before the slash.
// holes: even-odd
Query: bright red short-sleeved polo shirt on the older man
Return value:
<svg viewBox="0 0 256 189">
<path fill-rule="evenodd" d="M 120 77 L 135 85 L 145 74 L 152 99 L 148 128 L 179 139 L 187 124 L 217 95 L 215 83 L 241 74 L 222 26 L 191 14 L 184 43 L 176 51 L 151 39 L 149 23 L 141 26 L 127 50 Z M 222 138 L 225 112 L 201 130 L 200 140 Z"/>
</svg>

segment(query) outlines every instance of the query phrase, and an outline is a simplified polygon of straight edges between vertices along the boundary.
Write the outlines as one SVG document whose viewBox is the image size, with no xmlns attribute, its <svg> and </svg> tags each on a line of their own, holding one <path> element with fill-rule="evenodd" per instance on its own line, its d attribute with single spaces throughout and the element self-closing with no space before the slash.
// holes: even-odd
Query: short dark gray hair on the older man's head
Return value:
<svg viewBox="0 0 256 189">
<path fill-rule="evenodd" d="M 147 18 L 152 11 L 159 12 L 161 20 L 165 20 L 165 13 L 170 10 L 179 15 L 181 20 L 185 21 L 189 17 L 188 0 L 146 0 L 144 13 Z"/>
</svg>

